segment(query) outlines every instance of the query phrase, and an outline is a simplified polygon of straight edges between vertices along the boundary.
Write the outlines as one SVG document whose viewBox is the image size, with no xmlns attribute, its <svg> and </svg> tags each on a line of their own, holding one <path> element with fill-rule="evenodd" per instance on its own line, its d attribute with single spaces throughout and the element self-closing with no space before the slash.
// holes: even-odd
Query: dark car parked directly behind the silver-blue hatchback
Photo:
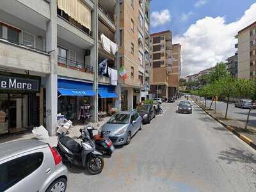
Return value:
<svg viewBox="0 0 256 192">
<path fill-rule="evenodd" d="M 152 118 L 156 116 L 155 109 L 151 104 L 143 104 L 138 106 L 137 111 L 140 114 L 143 123 L 149 124 Z"/>
</svg>

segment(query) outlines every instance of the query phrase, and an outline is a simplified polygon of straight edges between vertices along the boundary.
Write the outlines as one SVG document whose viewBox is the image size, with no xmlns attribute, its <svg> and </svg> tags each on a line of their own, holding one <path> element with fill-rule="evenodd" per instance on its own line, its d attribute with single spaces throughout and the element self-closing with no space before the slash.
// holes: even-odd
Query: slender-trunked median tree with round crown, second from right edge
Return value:
<svg viewBox="0 0 256 192">
<path fill-rule="evenodd" d="M 237 97 L 239 95 L 239 90 L 237 90 L 237 79 L 230 76 L 222 77 L 220 80 L 216 81 L 220 87 L 220 95 L 227 97 L 227 108 L 225 113 L 225 119 L 227 119 L 228 104 L 230 97 Z"/>
</svg>

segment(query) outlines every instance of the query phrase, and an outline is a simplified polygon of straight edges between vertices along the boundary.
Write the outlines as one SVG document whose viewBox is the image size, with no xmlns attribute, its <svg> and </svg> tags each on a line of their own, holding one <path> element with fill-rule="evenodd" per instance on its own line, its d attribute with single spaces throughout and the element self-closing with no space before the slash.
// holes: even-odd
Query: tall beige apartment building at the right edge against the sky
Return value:
<svg viewBox="0 0 256 192">
<path fill-rule="evenodd" d="M 241 29 L 236 35 L 237 77 L 250 79 L 256 75 L 256 22 Z"/>
</svg>

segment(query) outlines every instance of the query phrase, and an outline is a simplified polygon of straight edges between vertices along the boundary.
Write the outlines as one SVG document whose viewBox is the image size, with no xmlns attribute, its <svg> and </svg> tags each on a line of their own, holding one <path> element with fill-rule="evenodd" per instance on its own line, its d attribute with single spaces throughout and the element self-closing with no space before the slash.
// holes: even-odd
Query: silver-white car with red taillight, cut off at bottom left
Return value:
<svg viewBox="0 0 256 192">
<path fill-rule="evenodd" d="M 65 192 L 67 167 L 56 148 L 38 140 L 0 145 L 0 191 Z"/>
</svg>

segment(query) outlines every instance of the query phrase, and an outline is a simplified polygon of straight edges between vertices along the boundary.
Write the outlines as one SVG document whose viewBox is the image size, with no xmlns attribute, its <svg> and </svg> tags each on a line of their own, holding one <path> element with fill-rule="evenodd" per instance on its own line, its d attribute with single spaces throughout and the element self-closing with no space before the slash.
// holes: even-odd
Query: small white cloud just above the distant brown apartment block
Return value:
<svg viewBox="0 0 256 192">
<path fill-rule="evenodd" d="M 166 22 L 171 20 L 171 15 L 169 10 L 161 10 L 160 12 L 152 12 L 151 13 L 151 25 L 153 27 L 161 26 Z"/>
</svg>

